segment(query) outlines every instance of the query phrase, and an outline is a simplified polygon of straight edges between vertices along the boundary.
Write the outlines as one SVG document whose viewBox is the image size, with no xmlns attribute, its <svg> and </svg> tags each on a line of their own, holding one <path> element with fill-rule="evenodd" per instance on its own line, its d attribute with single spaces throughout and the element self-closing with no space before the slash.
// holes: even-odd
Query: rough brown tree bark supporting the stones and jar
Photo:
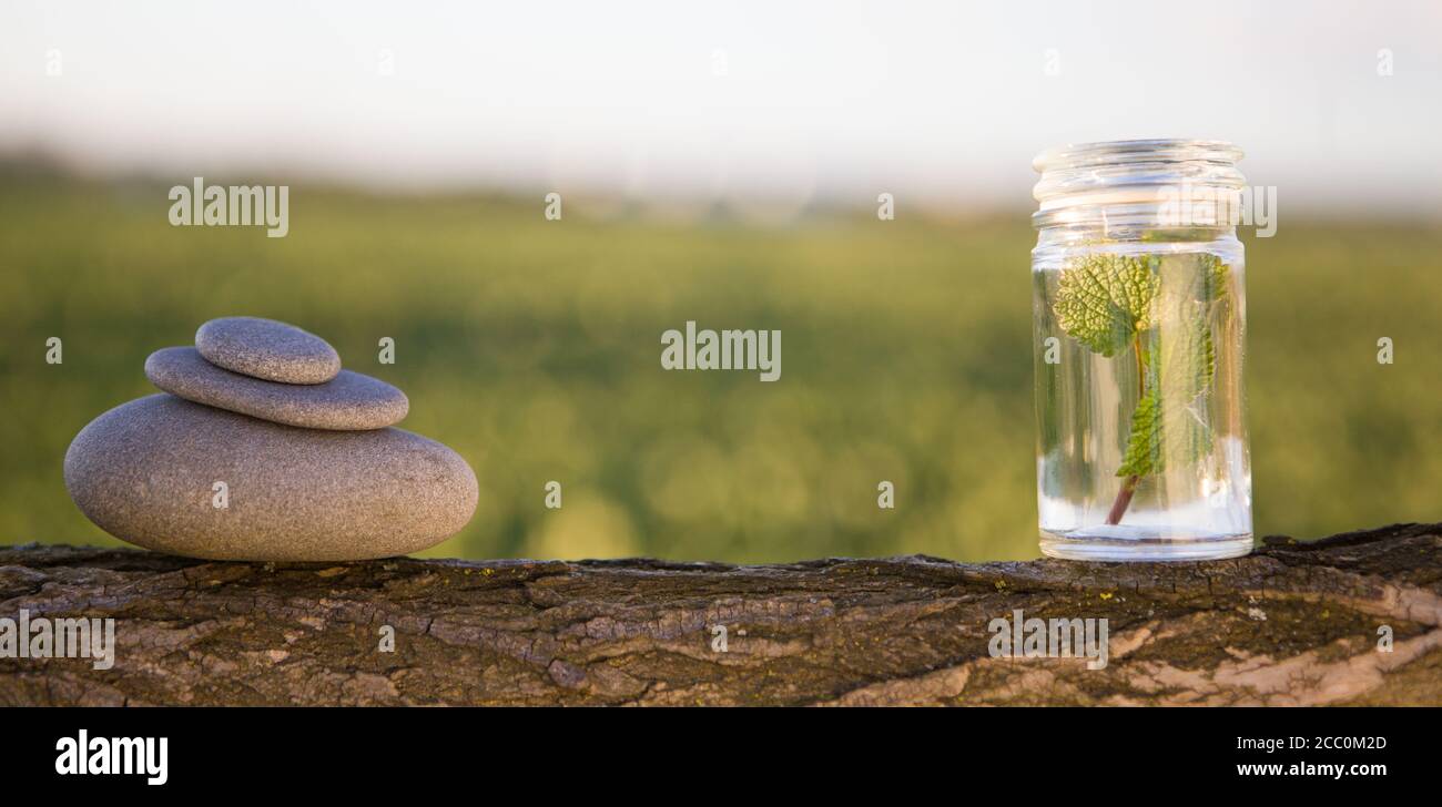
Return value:
<svg viewBox="0 0 1442 807">
<path fill-rule="evenodd" d="M 1129 565 L 216 563 L 12 546 L 0 618 L 112 617 L 115 663 L 0 659 L 0 703 L 1439 705 L 1439 549 L 1442 525 Z M 989 625 L 1015 610 L 1106 618 L 1107 664 L 992 657 Z"/>
</svg>

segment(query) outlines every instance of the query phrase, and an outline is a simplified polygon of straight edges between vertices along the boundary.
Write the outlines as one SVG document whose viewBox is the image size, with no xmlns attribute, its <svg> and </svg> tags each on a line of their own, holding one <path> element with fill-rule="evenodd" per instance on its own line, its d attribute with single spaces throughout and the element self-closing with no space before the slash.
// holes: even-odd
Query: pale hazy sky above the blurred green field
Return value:
<svg viewBox="0 0 1442 807">
<path fill-rule="evenodd" d="M 105 173 L 1030 208 L 1031 159 L 1230 140 L 1442 216 L 1442 1 L 7 0 L 0 153 Z"/>
</svg>

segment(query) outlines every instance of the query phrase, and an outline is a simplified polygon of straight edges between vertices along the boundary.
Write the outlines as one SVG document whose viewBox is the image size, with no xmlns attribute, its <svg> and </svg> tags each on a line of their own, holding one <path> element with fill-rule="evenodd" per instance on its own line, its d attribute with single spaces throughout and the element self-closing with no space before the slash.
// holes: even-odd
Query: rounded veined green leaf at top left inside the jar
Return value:
<svg viewBox="0 0 1442 807">
<path fill-rule="evenodd" d="M 1051 307 L 1061 330 L 1093 353 L 1116 356 L 1149 326 L 1161 285 L 1156 267 L 1155 255 L 1093 252 L 1071 261 Z"/>
</svg>

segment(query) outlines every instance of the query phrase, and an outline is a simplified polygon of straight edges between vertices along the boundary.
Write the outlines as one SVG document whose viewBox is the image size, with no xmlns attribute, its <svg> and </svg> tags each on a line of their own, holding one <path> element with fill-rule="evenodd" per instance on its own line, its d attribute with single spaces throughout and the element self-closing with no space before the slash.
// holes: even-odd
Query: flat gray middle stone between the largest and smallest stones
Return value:
<svg viewBox="0 0 1442 807">
<path fill-rule="evenodd" d="M 399 389 L 350 370 L 326 383 L 277 383 L 222 370 L 195 347 L 156 350 L 146 359 L 146 378 L 196 404 L 301 428 L 384 428 L 401 422 L 411 408 Z"/>
</svg>

